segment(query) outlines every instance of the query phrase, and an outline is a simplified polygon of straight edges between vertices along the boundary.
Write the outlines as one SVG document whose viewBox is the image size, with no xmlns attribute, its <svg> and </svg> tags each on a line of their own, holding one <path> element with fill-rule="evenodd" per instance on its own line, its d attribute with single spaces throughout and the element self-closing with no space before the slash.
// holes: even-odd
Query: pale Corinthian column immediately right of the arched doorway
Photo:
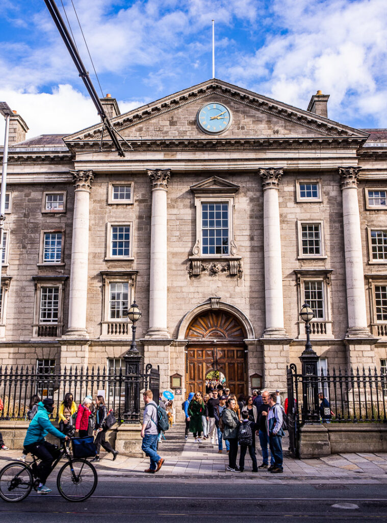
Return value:
<svg viewBox="0 0 387 523">
<path fill-rule="evenodd" d="M 263 187 L 263 235 L 265 260 L 266 328 L 263 337 L 283 338 L 284 298 L 282 291 L 281 237 L 278 183 L 282 169 L 260 169 Z"/>
</svg>

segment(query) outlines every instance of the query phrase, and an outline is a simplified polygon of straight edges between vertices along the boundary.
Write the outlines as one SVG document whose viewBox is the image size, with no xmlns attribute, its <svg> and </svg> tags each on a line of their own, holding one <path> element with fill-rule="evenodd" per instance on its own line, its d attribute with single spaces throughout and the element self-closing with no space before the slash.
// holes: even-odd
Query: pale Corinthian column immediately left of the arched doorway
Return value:
<svg viewBox="0 0 387 523">
<path fill-rule="evenodd" d="M 167 190 L 170 169 L 148 169 L 152 187 L 149 328 L 147 337 L 169 338 L 167 329 Z"/>
</svg>

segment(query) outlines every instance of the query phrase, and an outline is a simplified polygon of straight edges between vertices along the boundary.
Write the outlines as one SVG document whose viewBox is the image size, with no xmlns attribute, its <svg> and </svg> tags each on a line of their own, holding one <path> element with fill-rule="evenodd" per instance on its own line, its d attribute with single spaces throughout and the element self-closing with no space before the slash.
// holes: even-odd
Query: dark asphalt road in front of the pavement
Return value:
<svg viewBox="0 0 387 523">
<path fill-rule="evenodd" d="M 86 502 L 31 493 L 21 503 L 0 500 L 2 523 L 234 523 L 387 521 L 386 485 L 136 481 L 100 477 Z M 49 480 L 49 485 L 54 481 Z"/>
</svg>

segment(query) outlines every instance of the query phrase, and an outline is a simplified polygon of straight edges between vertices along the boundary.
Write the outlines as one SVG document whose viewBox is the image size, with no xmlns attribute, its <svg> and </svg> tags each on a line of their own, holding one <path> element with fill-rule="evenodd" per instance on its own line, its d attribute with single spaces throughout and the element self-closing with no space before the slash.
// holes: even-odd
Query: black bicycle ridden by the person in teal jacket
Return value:
<svg viewBox="0 0 387 523">
<path fill-rule="evenodd" d="M 58 449 L 51 472 L 58 462 L 65 457 L 67 463 L 58 472 L 56 486 L 62 497 L 67 501 L 85 501 L 97 488 L 97 471 L 91 463 L 84 458 L 73 459 L 71 452 L 62 441 L 62 448 Z M 0 497 L 8 502 L 18 502 L 25 499 L 32 488 L 39 486 L 38 460 L 32 456 L 30 463 L 13 461 L 0 471 Z"/>
</svg>

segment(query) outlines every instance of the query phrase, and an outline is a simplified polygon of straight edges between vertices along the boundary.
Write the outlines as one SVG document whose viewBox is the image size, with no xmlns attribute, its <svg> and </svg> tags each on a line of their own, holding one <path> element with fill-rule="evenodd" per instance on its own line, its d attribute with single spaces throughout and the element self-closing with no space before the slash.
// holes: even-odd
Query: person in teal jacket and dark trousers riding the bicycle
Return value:
<svg viewBox="0 0 387 523">
<path fill-rule="evenodd" d="M 54 400 L 47 398 L 38 403 L 38 412 L 34 415 L 28 429 L 26 438 L 24 440 L 24 448 L 27 452 L 31 452 L 41 461 L 38 465 L 37 475 L 40 483 L 38 486 L 39 494 L 49 494 L 51 488 L 45 486 L 46 479 L 51 473 L 51 466 L 54 459 L 58 456 L 58 448 L 48 441 L 44 441 L 44 437 L 50 433 L 60 439 L 67 440 L 68 437 L 57 430 L 49 419 L 49 413 L 54 410 Z"/>
</svg>

